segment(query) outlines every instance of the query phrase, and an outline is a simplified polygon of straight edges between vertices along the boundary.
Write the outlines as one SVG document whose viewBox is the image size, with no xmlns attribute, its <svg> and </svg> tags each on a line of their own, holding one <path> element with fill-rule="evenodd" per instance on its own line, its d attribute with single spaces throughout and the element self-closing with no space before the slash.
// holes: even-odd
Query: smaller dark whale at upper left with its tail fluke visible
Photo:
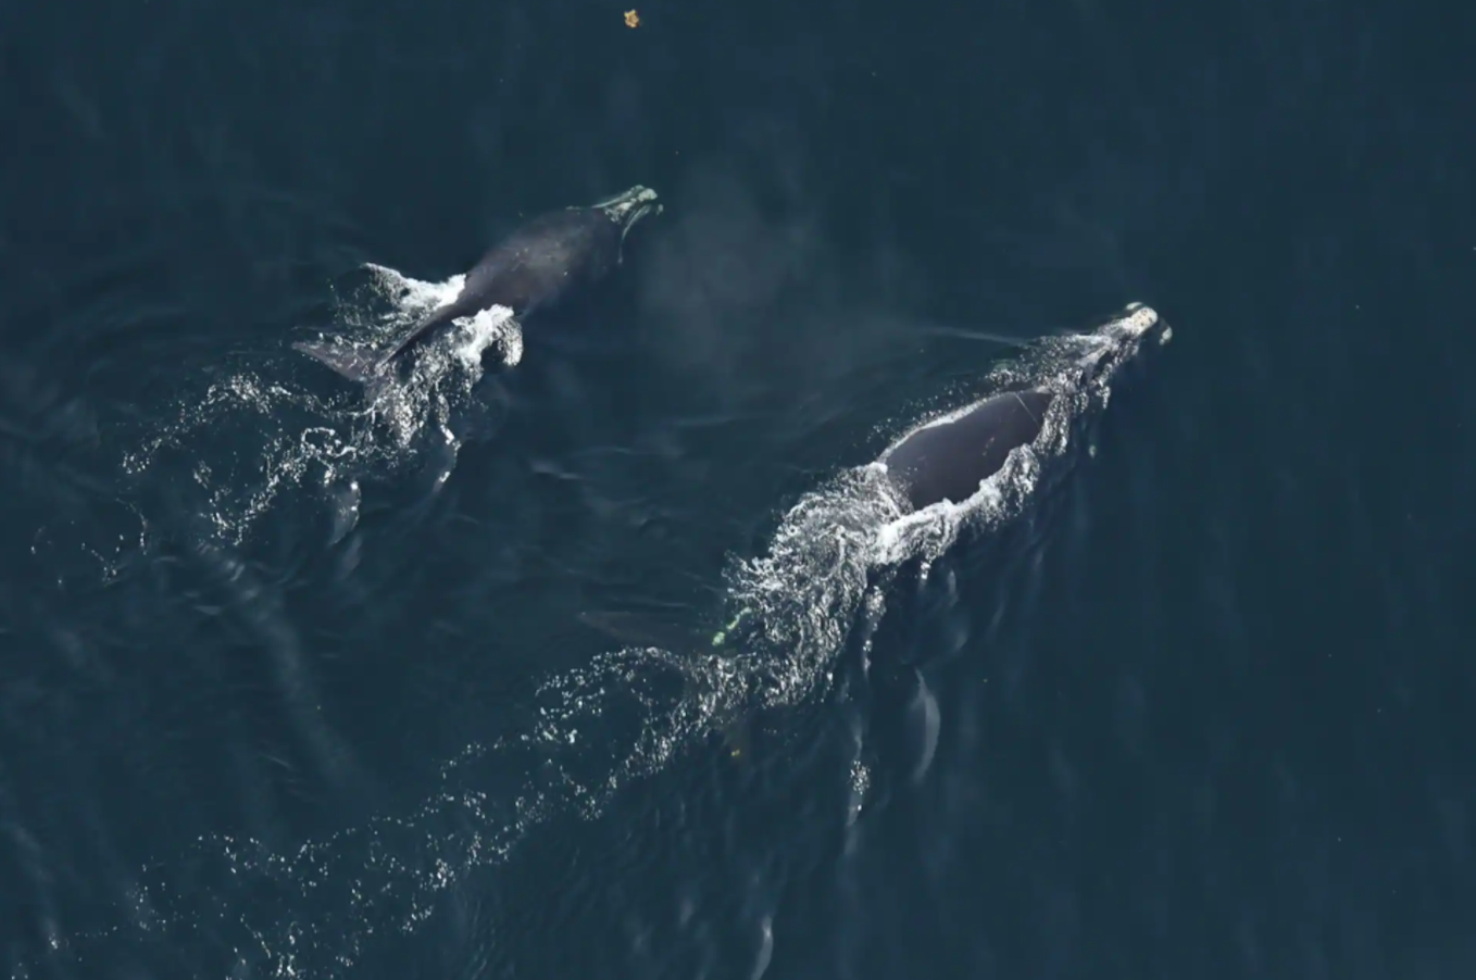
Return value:
<svg viewBox="0 0 1476 980">
<path fill-rule="evenodd" d="M 540 214 L 483 255 L 455 300 L 432 310 L 388 348 L 365 351 L 329 341 L 297 341 L 292 348 L 351 381 L 368 382 L 453 320 L 493 306 L 521 317 L 593 286 L 621 264 L 626 235 L 635 223 L 661 210 L 655 190 L 636 184 L 599 204 Z"/>
</svg>

